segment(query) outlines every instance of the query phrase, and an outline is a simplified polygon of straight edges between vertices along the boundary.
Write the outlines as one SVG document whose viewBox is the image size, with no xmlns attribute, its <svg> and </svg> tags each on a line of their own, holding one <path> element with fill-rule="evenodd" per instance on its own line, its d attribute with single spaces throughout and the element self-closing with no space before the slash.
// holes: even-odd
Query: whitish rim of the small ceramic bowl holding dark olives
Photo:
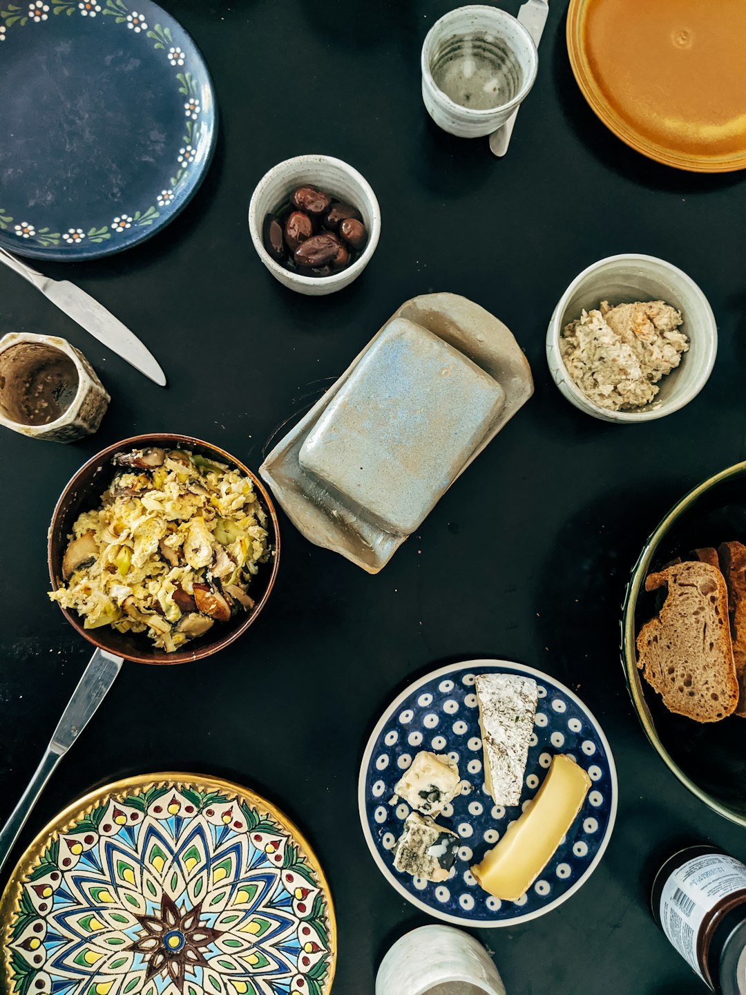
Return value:
<svg viewBox="0 0 746 995">
<path fill-rule="evenodd" d="M 362 189 L 367 200 L 367 206 L 370 208 L 373 223 L 371 231 L 368 233 L 368 241 L 365 248 L 352 266 L 348 266 L 346 269 L 340 270 L 338 273 L 329 274 L 328 277 L 304 277 L 300 273 L 293 273 L 292 270 L 285 270 L 283 266 L 280 266 L 280 263 L 277 263 L 272 258 L 265 248 L 264 242 L 262 241 L 263 222 L 256 217 L 256 213 L 260 197 L 265 192 L 265 189 L 275 179 L 282 166 L 302 168 L 305 166 L 312 166 L 314 164 L 317 165 L 319 162 L 328 162 L 331 165 L 338 167 L 342 170 L 342 172 L 347 173 L 349 178 Z M 355 207 L 357 207 L 358 210 L 360 209 L 358 205 L 355 205 Z M 354 166 L 351 166 L 348 162 L 345 162 L 343 159 L 338 159 L 333 155 L 323 155 L 322 153 L 293 155 L 289 159 L 283 159 L 271 169 L 268 169 L 257 186 L 254 188 L 252 199 L 249 201 L 249 231 L 251 233 L 252 242 L 254 243 L 257 255 L 270 270 L 270 272 L 274 276 L 279 277 L 281 281 L 290 280 L 297 287 L 323 287 L 326 290 L 333 289 L 336 285 L 341 285 L 339 290 L 342 290 L 343 287 L 346 287 L 347 284 L 352 283 L 353 280 L 356 280 L 357 277 L 360 276 L 378 247 L 378 240 L 381 235 L 381 208 L 378 203 L 378 198 L 373 191 L 373 187 L 370 183 L 368 183 L 363 174 L 358 172 L 358 170 L 355 169 Z"/>
</svg>

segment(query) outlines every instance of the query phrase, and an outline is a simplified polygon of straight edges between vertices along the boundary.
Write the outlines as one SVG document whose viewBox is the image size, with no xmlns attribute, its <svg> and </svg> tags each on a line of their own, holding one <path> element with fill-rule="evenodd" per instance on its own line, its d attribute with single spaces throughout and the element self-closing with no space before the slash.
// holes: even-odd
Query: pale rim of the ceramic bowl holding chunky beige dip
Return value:
<svg viewBox="0 0 746 995">
<path fill-rule="evenodd" d="M 699 394 L 703 389 L 704 385 L 709 380 L 712 369 L 715 365 L 715 359 L 717 357 L 717 322 L 715 320 L 715 315 L 712 311 L 712 306 L 709 300 L 705 297 L 704 291 L 699 287 L 699 285 L 691 279 L 691 277 L 680 270 L 677 266 L 672 263 L 668 263 L 664 259 L 660 259 L 657 256 L 649 256 L 645 253 L 618 253 L 615 256 L 606 256 L 604 259 L 597 260 L 595 263 L 591 263 L 587 266 L 585 270 L 578 274 L 578 276 L 568 285 L 567 290 L 564 292 L 561 298 L 557 301 L 557 304 L 552 312 L 552 316 L 549 320 L 549 327 L 547 329 L 547 351 L 551 348 L 554 350 L 557 361 L 562 364 L 562 368 L 567 371 L 567 367 L 564 364 L 564 360 L 560 355 L 559 351 L 559 340 L 560 331 L 562 325 L 562 315 L 565 311 L 568 301 L 573 296 L 579 285 L 592 273 L 605 266 L 608 263 L 645 263 L 653 264 L 655 267 L 661 267 L 667 270 L 669 273 L 675 274 L 675 276 L 685 283 L 692 294 L 699 298 L 702 304 L 702 309 L 707 315 L 706 327 L 702 327 L 701 334 L 702 338 L 706 337 L 706 354 L 704 361 L 700 364 L 699 370 L 695 380 L 693 381 L 691 387 L 688 391 L 684 393 L 680 398 L 675 398 L 670 401 L 659 402 L 658 407 L 647 407 L 643 408 L 641 411 L 609 411 L 606 408 L 602 408 L 600 405 L 591 401 L 583 391 L 578 387 L 571 379 L 569 372 L 567 377 L 563 380 L 563 385 L 567 389 L 568 393 L 579 402 L 577 405 L 580 410 L 584 411 L 585 414 L 591 415 L 593 418 L 599 418 L 606 422 L 615 422 L 617 424 L 639 424 L 641 422 L 652 422 L 657 418 L 664 418 L 666 415 L 672 415 L 675 411 L 679 411 L 681 408 L 685 407 L 690 401 Z M 681 362 L 686 362 L 687 356 L 681 359 Z M 551 370 L 552 379 L 557 383 L 557 377 Z M 558 385 L 559 386 L 559 385 Z"/>
</svg>

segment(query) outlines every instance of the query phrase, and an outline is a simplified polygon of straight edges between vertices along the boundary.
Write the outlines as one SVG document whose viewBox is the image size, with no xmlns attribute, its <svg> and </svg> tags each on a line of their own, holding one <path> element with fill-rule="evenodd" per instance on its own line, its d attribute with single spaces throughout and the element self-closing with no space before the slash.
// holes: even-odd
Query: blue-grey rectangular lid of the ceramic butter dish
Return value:
<svg viewBox="0 0 746 995">
<path fill-rule="evenodd" d="M 382 528 L 409 535 L 504 403 L 502 387 L 463 352 L 398 317 L 329 402 L 298 460 Z"/>
</svg>

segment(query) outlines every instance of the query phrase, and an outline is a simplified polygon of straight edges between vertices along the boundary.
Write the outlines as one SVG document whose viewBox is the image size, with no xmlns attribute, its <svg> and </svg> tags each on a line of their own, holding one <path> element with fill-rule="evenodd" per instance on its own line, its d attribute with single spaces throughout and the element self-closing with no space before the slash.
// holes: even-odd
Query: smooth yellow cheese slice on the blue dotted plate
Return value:
<svg viewBox="0 0 746 995">
<path fill-rule="evenodd" d="M 505 901 L 525 895 L 575 822 L 590 786 L 590 777 L 573 759 L 564 753 L 553 757 L 531 807 L 471 868 L 484 891 Z"/>
</svg>

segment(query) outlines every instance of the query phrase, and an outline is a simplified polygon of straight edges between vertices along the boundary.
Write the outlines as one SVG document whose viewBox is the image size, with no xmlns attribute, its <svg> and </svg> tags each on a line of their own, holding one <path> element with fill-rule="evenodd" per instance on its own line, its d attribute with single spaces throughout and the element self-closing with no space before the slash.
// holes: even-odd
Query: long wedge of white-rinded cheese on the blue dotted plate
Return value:
<svg viewBox="0 0 746 995">
<path fill-rule="evenodd" d="M 484 787 L 495 805 L 517 805 L 533 733 L 536 682 L 514 674 L 480 674 L 474 691 L 484 750 Z"/>
</svg>

